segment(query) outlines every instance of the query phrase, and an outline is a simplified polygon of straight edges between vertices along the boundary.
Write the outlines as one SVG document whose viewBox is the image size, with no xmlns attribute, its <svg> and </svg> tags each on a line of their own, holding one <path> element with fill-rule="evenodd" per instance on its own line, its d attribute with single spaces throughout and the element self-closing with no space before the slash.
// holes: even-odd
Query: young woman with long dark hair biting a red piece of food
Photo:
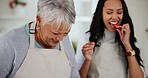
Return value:
<svg viewBox="0 0 148 78">
<path fill-rule="evenodd" d="M 81 78 L 144 78 L 140 50 L 124 0 L 99 0 L 89 31 L 78 44 Z"/>
</svg>

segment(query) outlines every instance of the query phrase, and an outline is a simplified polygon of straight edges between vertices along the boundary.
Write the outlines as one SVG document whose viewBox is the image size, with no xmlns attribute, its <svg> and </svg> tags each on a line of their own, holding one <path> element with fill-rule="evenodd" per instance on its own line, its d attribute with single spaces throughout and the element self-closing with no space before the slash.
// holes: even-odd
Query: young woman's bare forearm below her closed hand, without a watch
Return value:
<svg viewBox="0 0 148 78">
<path fill-rule="evenodd" d="M 87 61 L 87 60 L 84 61 L 83 65 L 79 71 L 81 78 L 87 78 L 87 73 L 88 73 L 88 70 L 90 67 L 90 63 L 91 63 L 91 61 Z"/>
</svg>

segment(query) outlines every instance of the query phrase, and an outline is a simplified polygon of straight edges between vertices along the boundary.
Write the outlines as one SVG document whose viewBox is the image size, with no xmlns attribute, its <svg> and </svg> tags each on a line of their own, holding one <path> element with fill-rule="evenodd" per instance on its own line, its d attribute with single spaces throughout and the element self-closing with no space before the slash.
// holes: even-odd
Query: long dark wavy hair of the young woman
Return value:
<svg viewBox="0 0 148 78">
<path fill-rule="evenodd" d="M 106 0 L 99 0 L 97 7 L 96 7 L 96 11 L 93 15 L 93 19 L 90 25 L 90 29 L 88 30 L 88 32 L 90 33 L 90 38 L 89 41 L 90 42 L 95 42 L 95 44 L 97 44 L 97 42 L 99 42 L 104 35 L 104 30 L 105 30 L 105 26 L 104 26 L 104 22 L 103 22 L 103 17 L 102 17 L 102 11 L 103 11 L 103 7 L 104 7 L 104 3 Z M 135 43 L 137 42 L 135 36 L 134 36 L 134 27 L 133 27 L 133 23 L 131 20 L 131 17 L 129 15 L 128 12 L 128 8 L 127 5 L 125 3 L 124 0 L 120 0 L 122 3 L 122 8 L 123 8 L 123 19 L 121 21 L 121 25 L 128 23 L 130 26 L 130 44 L 132 49 L 135 50 L 136 52 L 136 59 L 139 63 L 140 66 L 143 66 L 142 63 L 140 61 L 142 61 L 141 57 L 140 57 L 140 50 L 139 48 L 135 45 Z M 122 47 L 122 49 L 124 50 L 124 53 L 126 52 L 125 47 L 123 46 L 123 43 L 120 40 L 120 36 L 116 31 L 116 36 L 115 36 L 115 42 L 119 44 L 119 46 Z"/>
</svg>

